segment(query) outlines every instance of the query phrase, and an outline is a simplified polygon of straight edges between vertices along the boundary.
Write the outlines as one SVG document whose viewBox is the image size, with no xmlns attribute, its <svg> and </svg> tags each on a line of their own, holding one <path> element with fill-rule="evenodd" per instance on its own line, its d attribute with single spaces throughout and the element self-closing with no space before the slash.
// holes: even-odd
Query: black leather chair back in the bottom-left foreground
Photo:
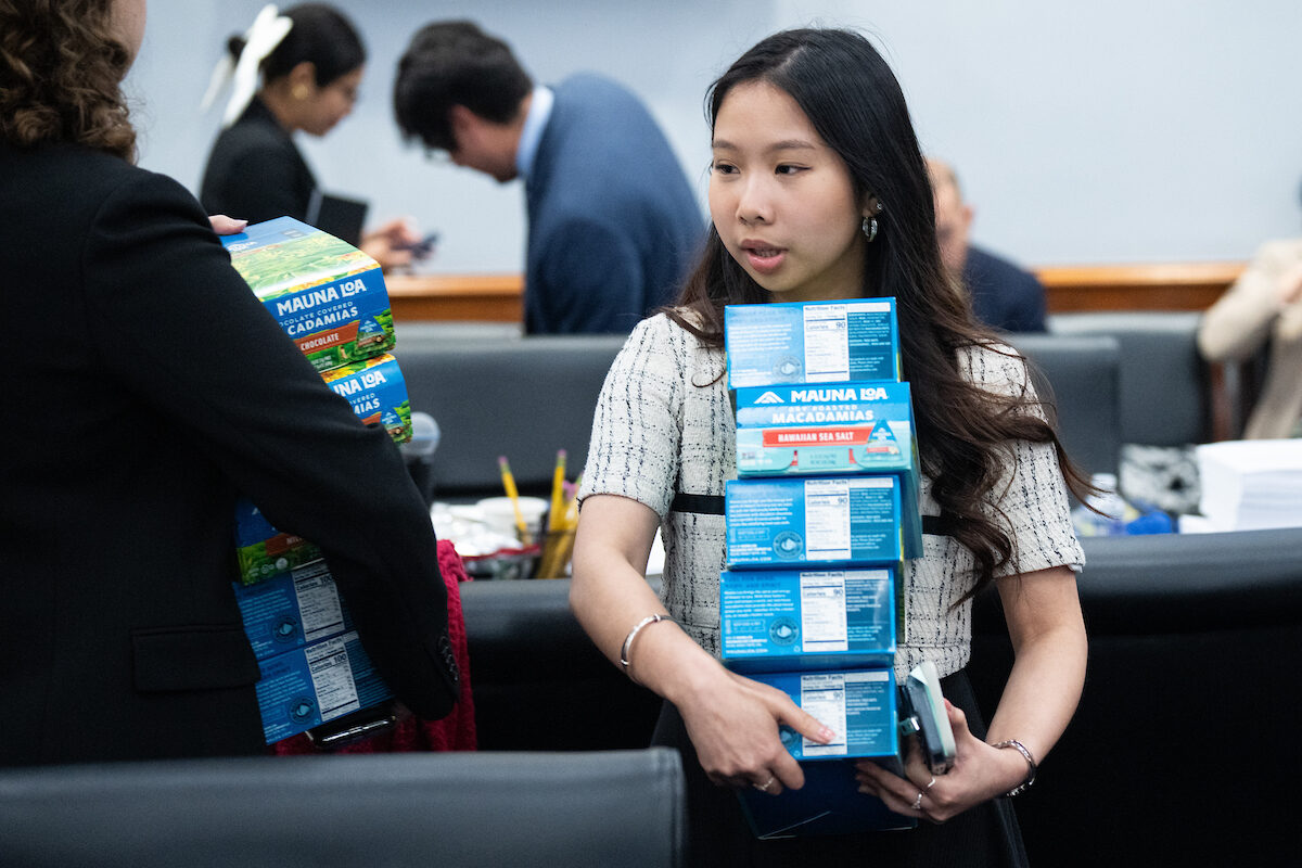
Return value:
<svg viewBox="0 0 1302 868">
<path fill-rule="evenodd" d="M 665 748 L 120 763 L 0 770 L 0 864 L 680 865 Z"/>
</svg>

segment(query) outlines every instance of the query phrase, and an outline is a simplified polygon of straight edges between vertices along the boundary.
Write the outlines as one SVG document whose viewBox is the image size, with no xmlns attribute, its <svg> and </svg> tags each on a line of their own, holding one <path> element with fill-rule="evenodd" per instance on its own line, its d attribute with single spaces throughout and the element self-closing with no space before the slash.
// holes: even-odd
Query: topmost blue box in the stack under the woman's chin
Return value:
<svg viewBox="0 0 1302 868">
<path fill-rule="evenodd" d="M 893 298 L 729 305 L 728 388 L 900 380 Z"/>
</svg>

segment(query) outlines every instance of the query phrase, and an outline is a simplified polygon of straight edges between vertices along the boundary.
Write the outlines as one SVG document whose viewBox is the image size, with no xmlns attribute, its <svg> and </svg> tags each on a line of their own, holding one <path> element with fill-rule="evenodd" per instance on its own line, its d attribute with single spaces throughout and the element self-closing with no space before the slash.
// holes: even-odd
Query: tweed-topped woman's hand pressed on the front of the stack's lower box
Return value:
<svg viewBox="0 0 1302 868">
<path fill-rule="evenodd" d="M 836 735 L 783 691 L 723 666 L 694 700 L 678 703 L 678 712 L 711 781 L 754 786 L 768 795 L 805 785 L 805 773 L 783 746 L 779 727 L 789 726 L 823 744 Z"/>
</svg>

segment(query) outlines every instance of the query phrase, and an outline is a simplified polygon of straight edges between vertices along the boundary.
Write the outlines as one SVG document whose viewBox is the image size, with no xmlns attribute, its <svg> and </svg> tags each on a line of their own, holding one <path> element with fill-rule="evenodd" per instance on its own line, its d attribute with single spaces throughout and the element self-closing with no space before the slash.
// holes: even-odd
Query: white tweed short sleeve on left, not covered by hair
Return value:
<svg viewBox="0 0 1302 868">
<path fill-rule="evenodd" d="M 682 340 L 663 314 L 633 329 L 596 402 L 581 498 L 620 495 L 668 514 L 682 437 Z"/>
</svg>

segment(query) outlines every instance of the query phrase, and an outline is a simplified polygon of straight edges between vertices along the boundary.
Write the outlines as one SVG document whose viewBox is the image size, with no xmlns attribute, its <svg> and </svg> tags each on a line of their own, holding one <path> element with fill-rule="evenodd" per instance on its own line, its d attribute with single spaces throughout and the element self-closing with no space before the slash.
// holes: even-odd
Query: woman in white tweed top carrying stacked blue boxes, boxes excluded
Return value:
<svg viewBox="0 0 1302 868">
<path fill-rule="evenodd" d="M 1021 864 L 1016 817 L 999 796 L 1034 780 L 1079 698 L 1086 639 L 1073 570 L 1083 554 L 1066 489 L 1085 483 L 1025 360 L 947 282 L 909 111 L 868 40 L 845 30 L 769 36 L 715 82 L 708 117 L 707 249 L 677 305 L 637 327 L 608 375 L 583 471 L 574 612 L 612 661 L 667 700 L 656 740 L 684 753 L 693 864 Z M 945 774 L 917 752 L 904 776 L 857 764 L 862 793 L 922 821 L 911 832 L 758 841 L 729 790 L 802 786 L 780 727 L 815 742 L 833 733 L 720 665 L 724 517 L 674 501 L 717 498 L 736 475 L 724 306 L 862 297 L 896 301 L 921 508 L 949 519 L 904 565 L 909 639 L 894 668 L 902 679 L 922 661 L 937 666 L 957 759 Z M 643 580 L 658 530 L 661 599 Z M 990 584 L 1017 658 L 987 730 L 963 666 L 971 599 Z"/>
</svg>

